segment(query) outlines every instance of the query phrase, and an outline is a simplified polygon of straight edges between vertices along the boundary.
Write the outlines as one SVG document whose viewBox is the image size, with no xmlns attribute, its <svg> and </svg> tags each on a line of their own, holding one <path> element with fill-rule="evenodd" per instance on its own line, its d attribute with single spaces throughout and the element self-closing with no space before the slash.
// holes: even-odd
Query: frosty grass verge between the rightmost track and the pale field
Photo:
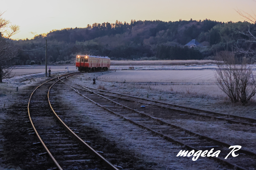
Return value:
<svg viewBox="0 0 256 170">
<path fill-rule="evenodd" d="M 116 77 L 129 76 L 129 72 L 126 72 L 125 74 L 121 73 L 121 76 L 119 76 L 119 74 L 115 75 L 115 73 L 117 72 L 109 71 L 98 73 L 83 73 L 83 75 L 79 75 L 78 79 L 73 81 L 80 81 L 82 84 L 94 88 L 99 88 L 99 85 L 101 85 L 101 88 L 104 87 L 109 91 L 116 91 L 122 94 L 137 96 L 141 98 L 148 97 L 148 99 L 152 100 L 159 100 L 197 109 L 256 119 L 255 96 L 246 106 L 242 106 L 239 103 L 230 103 L 228 97 L 218 88 L 216 84 L 193 83 L 193 81 L 197 81 L 194 80 L 193 76 L 191 76 L 189 79 L 192 84 L 184 82 L 173 85 L 161 85 L 161 82 L 157 82 L 151 85 L 150 82 L 148 82 L 143 85 L 143 83 L 136 82 L 126 83 L 124 80 L 121 82 L 116 82 Z M 96 79 L 96 85 L 92 84 L 93 77 Z M 102 77 L 109 77 L 109 79 L 107 82 L 105 82 L 102 81 Z M 148 75 L 148 77 L 151 77 L 152 82 L 155 79 L 159 79 L 157 75 Z M 132 79 L 132 77 L 130 77 L 130 79 Z M 214 82 L 214 79 L 211 81 Z"/>
</svg>

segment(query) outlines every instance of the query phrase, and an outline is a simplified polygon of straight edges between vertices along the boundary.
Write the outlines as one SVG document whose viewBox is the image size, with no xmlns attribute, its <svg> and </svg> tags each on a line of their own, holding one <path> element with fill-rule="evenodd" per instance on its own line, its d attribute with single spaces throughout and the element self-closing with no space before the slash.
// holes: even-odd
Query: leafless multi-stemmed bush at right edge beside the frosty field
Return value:
<svg viewBox="0 0 256 170">
<path fill-rule="evenodd" d="M 219 88 L 232 102 L 248 103 L 256 93 L 256 82 L 255 75 L 246 64 L 246 60 L 239 63 L 234 53 L 229 51 L 221 51 L 218 59 L 215 77 Z"/>
</svg>

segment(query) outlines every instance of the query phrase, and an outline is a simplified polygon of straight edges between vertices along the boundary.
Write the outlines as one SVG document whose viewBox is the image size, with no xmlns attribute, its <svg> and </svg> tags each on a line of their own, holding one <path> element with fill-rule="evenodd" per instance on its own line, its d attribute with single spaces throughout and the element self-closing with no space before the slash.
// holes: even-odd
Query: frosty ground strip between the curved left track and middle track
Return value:
<svg viewBox="0 0 256 170">
<path fill-rule="evenodd" d="M 73 80 L 71 77 L 69 79 Z M 69 108 L 69 110 L 65 110 L 66 114 L 72 115 L 65 119 L 67 122 L 72 122 L 71 124 L 79 122 L 83 126 L 100 130 L 105 138 L 114 141 L 124 152 L 134 153 L 138 158 L 143 159 L 145 165 L 141 169 L 147 169 L 146 164 L 148 162 L 152 162 L 154 165 L 150 169 L 227 168 L 222 167 L 212 159 L 201 158 L 192 161 L 192 158 L 177 157 L 178 152 L 182 150 L 180 146 L 154 136 L 151 132 L 95 106 L 94 103 L 82 98 L 74 91 L 67 88 L 61 88 L 59 91 L 61 94 L 56 96 L 57 99 L 61 99 L 59 102 Z M 76 117 L 80 117 L 80 119 Z"/>
</svg>

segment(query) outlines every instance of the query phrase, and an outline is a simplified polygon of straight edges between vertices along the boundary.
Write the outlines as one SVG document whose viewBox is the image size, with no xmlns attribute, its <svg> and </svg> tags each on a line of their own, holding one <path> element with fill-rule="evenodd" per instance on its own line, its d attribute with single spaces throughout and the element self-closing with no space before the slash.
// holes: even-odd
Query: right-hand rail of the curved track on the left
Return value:
<svg viewBox="0 0 256 170">
<path fill-rule="evenodd" d="M 59 79 L 58 81 L 61 81 L 63 82 L 61 79 Z M 56 81 L 55 83 L 57 83 L 58 81 Z M 55 84 L 54 83 L 54 84 Z M 65 82 L 63 82 L 65 83 Z M 54 85 L 52 84 L 51 87 Z M 65 83 L 67 84 L 67 83 Z M 69 84 L 67 84 L 69 85 Z M 51 87 L 49 88 L 48 90 L 48 101 L 49 101 L 49 104 L 50 104 L 50 107 L 51 107 L 51 110 L 53 111 L 54 113 L 54 116 L 56 117 L 56 119 L 60 122 L 60 124 L 64 127 L 65 130 L 67 130 L 67 132 L 77 140 L 78 143 L 80 143 L 84 148 L 87 149 L 87 151 L 89 151 L 91 154 L 95 155 L 98 159 L 100 159 L 101 161 L 104 162 L 104 164 L 112 169 L 112 170 L 119 170 L 118 168 L 116 168 L 113 164 L 111 164 L 108 160 L 106 160 L 103 156 L 101 156 L 98 152 L 96 152 L 94 149 L 92 149 L 86 142 L 84 142 L 81 138 L 79 138 L 60 118 L 59 116 L 55 113 L 54 109 L 52 108 L 51 106 L 51 103 L 50 103 L 50 99 L 49 99 L 49 92 L 50 92 L 50 89 Z"/>
</svg>

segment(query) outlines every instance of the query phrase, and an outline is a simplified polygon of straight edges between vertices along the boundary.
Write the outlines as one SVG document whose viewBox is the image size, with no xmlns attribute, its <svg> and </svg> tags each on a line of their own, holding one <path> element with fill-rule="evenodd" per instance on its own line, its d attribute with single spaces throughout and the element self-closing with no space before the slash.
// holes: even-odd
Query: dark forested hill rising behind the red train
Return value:
<svg viewBox="0 0 256 170">
<path fill-rule="evenodd" d="M 16 64 L 43 63 L 47 39 L 48 61 L 71 63 L 77 54 L 109 56 L 111 59 L 204 59 L 232 45 L 243 37 L 238 31 L 248 30 L 248 22 L 218 22 L 205 19 L 164 21 L 135 21 L 130 23 L 94 23 L 87 28 L 52 30 L 31 40 L 14 41 L 19 55 Z M 201 47 L 184 47 L 192 39 Z M 24 51 L 34 50 L 34 51 Z M 71 61 L 71 62 L 70 62 Z"/>
</svg>

